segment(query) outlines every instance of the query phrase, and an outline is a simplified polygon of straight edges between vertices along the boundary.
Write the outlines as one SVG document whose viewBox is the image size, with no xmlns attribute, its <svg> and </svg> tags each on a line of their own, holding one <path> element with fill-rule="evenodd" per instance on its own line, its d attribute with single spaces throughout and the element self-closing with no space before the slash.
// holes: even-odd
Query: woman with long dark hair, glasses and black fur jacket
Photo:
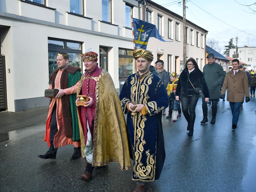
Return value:
<svg viewBox="0 0 256 192">
<path fill-rule="evenodd" d="M 205 96 L 205 102 L 209 100 L 209 90 L 206 85 L 204 75 L 198 68 L 196 61 L 194 59 L 188 59 L 185 69 L 180 74 L 176 89 L 176 100 L 180 100 L 180 96 L 182 97 L 182 112 L 188 122 L 188 136 L 192 136 L 196 119 L 196 103 L 199 95 L 196 94 L 192 84 L 188 80 L 188 77 L 195 88 L 202 90 Z"/>
</svg>

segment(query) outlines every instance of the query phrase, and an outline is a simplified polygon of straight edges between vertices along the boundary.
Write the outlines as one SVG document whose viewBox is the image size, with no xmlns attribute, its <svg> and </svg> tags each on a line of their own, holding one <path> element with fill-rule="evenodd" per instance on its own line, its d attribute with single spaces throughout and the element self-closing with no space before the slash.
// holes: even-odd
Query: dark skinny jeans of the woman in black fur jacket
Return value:
<svg viewBox="0 0 256 192">
<path fill-rule="evenodd" d="M 196 104 L 197 104 L 198 98 L 199 98 L 199 95 L 182 96 L 182 100 L 181 100 L 182 112 L 189 124 L 190 130 L 194 129 L 194 123 L 196 119 Z"/>
</svg>

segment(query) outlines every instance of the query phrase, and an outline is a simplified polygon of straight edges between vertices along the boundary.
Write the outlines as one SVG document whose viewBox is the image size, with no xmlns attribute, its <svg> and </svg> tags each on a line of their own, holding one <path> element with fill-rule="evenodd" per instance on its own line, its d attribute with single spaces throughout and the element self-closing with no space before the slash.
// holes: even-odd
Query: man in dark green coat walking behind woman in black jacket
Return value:
<svg viewBox="0 0 256 192">
<path fill-rule="evenodd" d="M 223 68 L 214 61 L 215 57 L 213 53 L 207 55 L 208 64 L 204 66 L 203 74 L 209 89 L 210 100 L 212 101 L 212 120 L 211 124 L 215 124 L 216 114 L 217 114 L 217 101 L 220 99 L 220 84 L 224 81 L 226 72 Z M 204 100 L 204 95 L 202 94 L 202 108 L 204 118 L 201 121 L 201 124 L 208 122 L 208 107 L 207 103 Z"/>
</svg>

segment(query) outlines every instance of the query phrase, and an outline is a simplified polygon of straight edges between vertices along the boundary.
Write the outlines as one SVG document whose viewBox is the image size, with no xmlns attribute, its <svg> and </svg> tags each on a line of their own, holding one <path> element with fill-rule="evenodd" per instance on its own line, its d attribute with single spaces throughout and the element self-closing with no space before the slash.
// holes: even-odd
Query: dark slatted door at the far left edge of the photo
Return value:
<svg viewBox="0 0 256 192">
<path fill-rule="evenodd" d="M 0 109 L 7 109 L 5 58 L 0 50 Z"/>
</svg>

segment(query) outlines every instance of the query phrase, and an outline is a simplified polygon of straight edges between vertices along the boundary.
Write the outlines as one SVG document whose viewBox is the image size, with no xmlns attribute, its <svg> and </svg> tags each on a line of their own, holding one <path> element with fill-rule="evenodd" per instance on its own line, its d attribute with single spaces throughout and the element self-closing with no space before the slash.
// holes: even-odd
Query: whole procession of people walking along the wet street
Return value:
<svg viewBox="0 0 256 192">
<path fill-rule="evenodd" d="M 118 98 L 111 76 L 98 66 L 98 54 L 86 52 L 81 57 L 86 68 L 83 75 L 81 68 L 69 65 L 68 53 L 57 55 L 58 68 L 50 77 L 49 89 L 58 90 L 58 94 L 51 97 L 44 137 L 49 150 L 38 155 L 42 159 L 55 159 L 58 148 L 73 144 L 70 160 L 81 156 L 85 159 L 81 180 L 92 180 L 95 166 L 116 162 L 121 170 L 132 169 L 132 180 L 137 182 L 133 192 L 144 192 L 146 182 L 159 179 L 164 166 L 162 117 L 168 106 L 166 118 L 172 117 L 176 122 L 182 109 L 188 136 L 192 136 L 200 95 L 201 124 L 208 122 L 208 101 L 212 102 L 211 124 L 214 124 L 217 102 L 224 99 L 228 89 L 233 129 L 237 126 L 244 95 L 246 102 L 250 101 L 247 74 L 239 70 L 239 60 L 233 60 L 233 69 L 225 74 L 215 63 L 213 54 L 207 56 L 208 64 L 203 72 L 194 59 L 188 59 L 177 78 L 175 72 L 169 75 L 164 69 L 163 60 L 157 60 L 154 67 L 152 52 L 138 49 L 133 52 L 138 72 L 127 78 Z M 252 97 L 256 77 L 252 72 L 250 77 Z M 127 114 L 126 122 L 124 114 Z"/>
</svg>

